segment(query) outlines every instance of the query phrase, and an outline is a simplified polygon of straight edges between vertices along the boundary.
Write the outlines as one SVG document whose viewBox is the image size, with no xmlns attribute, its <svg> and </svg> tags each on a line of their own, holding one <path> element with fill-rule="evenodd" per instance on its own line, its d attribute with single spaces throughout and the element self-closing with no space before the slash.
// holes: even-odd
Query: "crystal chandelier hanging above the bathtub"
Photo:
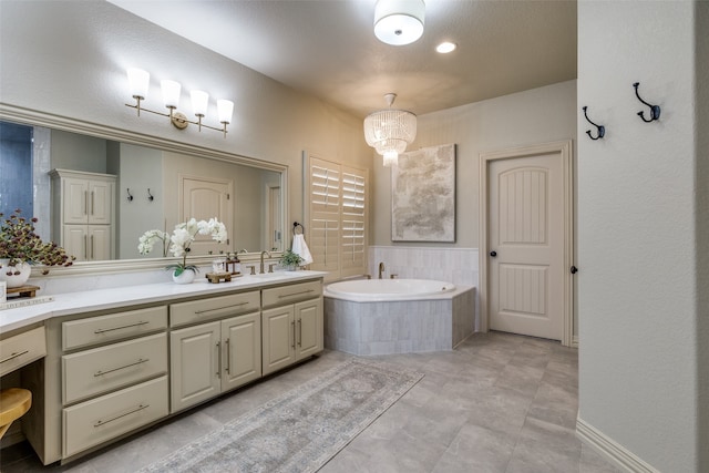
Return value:
<svg viewBox="0 0 709 473">
<path fill-rule="evenodd" d="M 388 110 L 380 110 L 364 119 L 364 140 L 367 144 L 384 156 L 384 166 L 397 164 L 399 153 L 417 137 L 417 115 L 405 110 L 394 110 L 391 105 L 397 94 L 384 95 Z"/>
</svg>

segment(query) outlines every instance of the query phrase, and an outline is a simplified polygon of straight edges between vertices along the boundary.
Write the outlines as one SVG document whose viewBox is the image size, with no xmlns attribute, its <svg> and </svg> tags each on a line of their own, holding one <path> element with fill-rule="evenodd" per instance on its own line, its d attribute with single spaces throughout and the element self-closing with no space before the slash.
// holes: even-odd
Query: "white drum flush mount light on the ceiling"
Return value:
<svg viewBox="0 0 709 473">
<path fill-rule="evenodd" d="M 387 44 L 410 44 L 423 34 L 423 0 L 379 0 L 374 7 L 374 34 Z"/>
</svg>

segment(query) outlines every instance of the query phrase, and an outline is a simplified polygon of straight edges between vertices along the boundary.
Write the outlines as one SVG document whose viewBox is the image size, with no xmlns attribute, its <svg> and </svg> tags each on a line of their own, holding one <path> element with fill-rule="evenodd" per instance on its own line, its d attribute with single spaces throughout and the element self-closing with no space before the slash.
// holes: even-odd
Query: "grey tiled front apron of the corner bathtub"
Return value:
<svg viewBox="0 0 709 473">
<path fill-rule="evenodd" d="M 475 288 L 419 300 L 359 302 L 325 297 L 325 346 L 352 354 L 452 350 L 475 326 Z"/>
</svg>

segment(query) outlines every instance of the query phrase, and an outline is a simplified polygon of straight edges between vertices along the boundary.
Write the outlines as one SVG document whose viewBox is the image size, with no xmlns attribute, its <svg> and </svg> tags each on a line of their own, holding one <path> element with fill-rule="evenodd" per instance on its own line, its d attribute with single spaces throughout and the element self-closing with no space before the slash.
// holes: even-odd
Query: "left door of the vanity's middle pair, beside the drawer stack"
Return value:
<svg viewBox="0 0 709 473">
<path fill-rule="evenodd" d="M 169 335 L 171 412 L 220 392 L 219 332 L 219 322 L 210 322 Z"/>
</svg>

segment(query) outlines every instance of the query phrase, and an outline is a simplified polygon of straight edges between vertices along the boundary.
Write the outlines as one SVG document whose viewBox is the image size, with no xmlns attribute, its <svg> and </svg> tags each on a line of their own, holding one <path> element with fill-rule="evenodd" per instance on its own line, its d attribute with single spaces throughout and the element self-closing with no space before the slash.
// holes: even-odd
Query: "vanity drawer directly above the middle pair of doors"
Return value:
<svg viewBox="0 0 709 473">
<path fill-rule="evenodd" d="M 253 312 L 259 310 L 259 294 L 255 290 L 251 292 L 173 304 L 169 306 L 169 326 L 179 327 L 223 318 L 225 316 Z"/>
</svg>

